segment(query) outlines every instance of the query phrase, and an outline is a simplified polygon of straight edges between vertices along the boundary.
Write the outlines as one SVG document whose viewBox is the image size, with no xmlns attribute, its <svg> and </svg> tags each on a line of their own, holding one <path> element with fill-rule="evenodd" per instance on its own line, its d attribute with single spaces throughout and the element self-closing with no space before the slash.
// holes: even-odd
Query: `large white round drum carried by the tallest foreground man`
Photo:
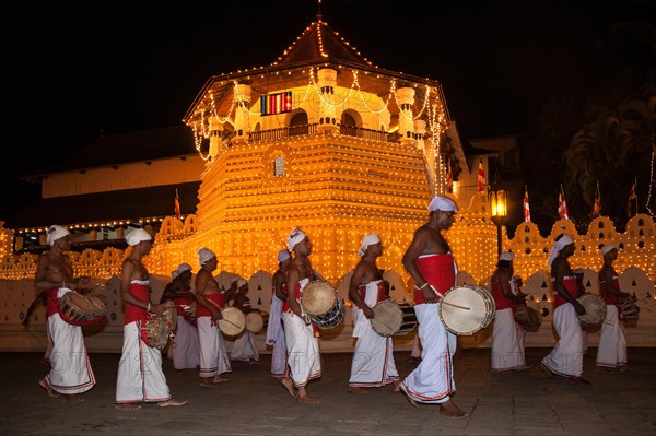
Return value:
<svg viewBox="0 0 656 436">
<path fill-rule="evenodd" d="M 494 298 L 482 286 L 454 286 L 440 303 L 440 318 L 454 334 L 473 334 L 494 319 Z"/>
</svg>

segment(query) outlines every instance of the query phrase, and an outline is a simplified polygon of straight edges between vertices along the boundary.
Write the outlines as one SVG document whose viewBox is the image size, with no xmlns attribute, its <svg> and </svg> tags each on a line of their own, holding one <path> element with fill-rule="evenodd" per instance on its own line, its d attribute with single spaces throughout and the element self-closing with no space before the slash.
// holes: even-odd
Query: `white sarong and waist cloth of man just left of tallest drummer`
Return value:
<svg viewBox="0 0 656 436">
<path fill-rule="evenodd" d="M 364 304 L 370 307 L 376 305 L 378 282 L 376 280 L 366 284 Z M 391 337 L 385 338 L 376 333 L 371 320 L 358 306 L 353 306 L 353 337 L 358 338 L 358 342 L 353 351 L 349 386 L 382 387 L 398 380 Z"/>
</svg>

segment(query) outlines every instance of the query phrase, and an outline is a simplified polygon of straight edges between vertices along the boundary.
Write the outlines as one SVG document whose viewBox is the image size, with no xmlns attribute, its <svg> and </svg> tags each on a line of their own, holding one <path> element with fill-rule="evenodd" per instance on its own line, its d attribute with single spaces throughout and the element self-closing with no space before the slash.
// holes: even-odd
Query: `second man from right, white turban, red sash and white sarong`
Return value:
<svg viewBox="0 0 656 436">
<path fill-rule="evenodd" d="M 576 301 L 578 284 L 567 258 L 574 254 L 574 239 L 561 234 L 549 255 L 551 283 L 555 291 L 553 299 L 553 327 L 559 335 L 555 346 L 540 363 L 540 370 L 548 376 L 565 377 L 571 384 L 587 384 L 583 378 L 583 333 L 578 315 L 585 307 Z"/>
</svg>

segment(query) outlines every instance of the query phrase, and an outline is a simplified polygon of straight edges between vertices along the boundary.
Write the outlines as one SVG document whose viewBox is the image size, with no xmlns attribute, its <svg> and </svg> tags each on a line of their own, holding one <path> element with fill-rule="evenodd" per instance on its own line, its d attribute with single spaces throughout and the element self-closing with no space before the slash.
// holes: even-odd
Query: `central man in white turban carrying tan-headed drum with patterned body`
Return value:
<svg viewBox="0 0 656 436">
<path fill-rule="evenodd" d="M 295 254 L 288 271 L 286 288 L 290 298 L 282 306 L 282 322 L 286 341 L 291 380 L 283 378 L 282 386 L 300 402 L 317 403 L 318 399 L 309 397 L 307 382 L 321 376 L 319 342 L 314 326 L 301 309 L 298 299 L 307 284 L 315 280 L 312 263 L 307 258 L 312 254 L 309 238 L 298 228 L 288 236 L 288 246 Z M 293 297 L 291 294 L 293 293 Z M 294 391 L 297 389 L 297 393 Z"/>
</svg>

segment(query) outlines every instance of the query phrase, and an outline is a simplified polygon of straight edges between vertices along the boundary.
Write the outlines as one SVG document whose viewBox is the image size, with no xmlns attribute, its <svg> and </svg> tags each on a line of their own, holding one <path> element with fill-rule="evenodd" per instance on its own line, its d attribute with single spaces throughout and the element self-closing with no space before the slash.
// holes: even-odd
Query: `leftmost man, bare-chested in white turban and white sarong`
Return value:
<svg viewBox="0 0 656 436">
<path fill-rule="evenodd" d="M 48 229 L 50 250 L 38 258 L 34 287 L 46 294 L 47 331 L 52 340 L 50 373 L 38 381 L 48 396 L 65 394 L 71 402 L 82 401 L 79 393 L 95 385 L 91 363 L 84 345 L 82 327 L 69 323 L 59 313 L 58 301 L 68 292 L 89 291 L 89 278 L 73 279 L 73 269 L 65 251 L 71 249 L 71 235 L 66 228 L 54 225 Z"/>
</svg>

